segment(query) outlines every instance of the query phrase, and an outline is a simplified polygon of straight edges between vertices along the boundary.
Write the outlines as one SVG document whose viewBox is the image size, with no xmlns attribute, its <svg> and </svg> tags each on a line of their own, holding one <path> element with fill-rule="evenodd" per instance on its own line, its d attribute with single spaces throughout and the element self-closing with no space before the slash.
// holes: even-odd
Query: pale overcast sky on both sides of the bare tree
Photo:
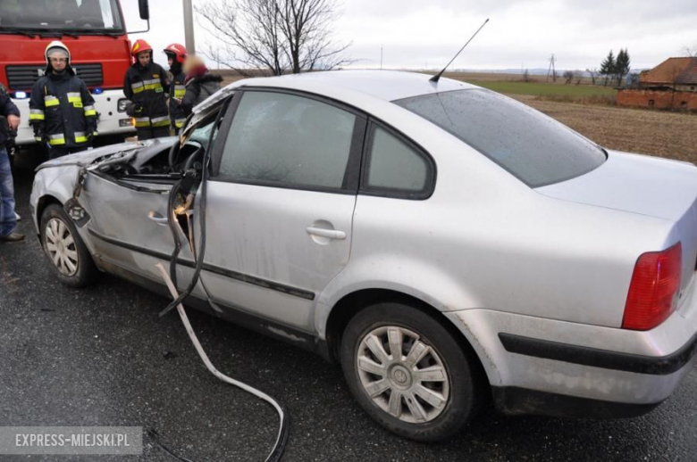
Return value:
<svg viewBox="0 0 697 462">
<path fill-rule="evenodd" d="M 205 0 L 193 0 L 194 5 Z M 492 70 L 599 67 L 612 49 L 627 48 L 632 68 L 651 68 L 697 46 L 697 0 L 343 0 L 335 38 L 353 42 L 354 67 L 438 68 L 449 62 L 486 18 L 489 24 L 451 66 Z M 142 26 L 137 0 L 122 0 L 128 29 Z M 181 0 L 150 0 L 150 32 L 155 62 L 171 42 L 184 43 Z M 201 49 L 215 39 L 195 23 Z"/>
</svg>

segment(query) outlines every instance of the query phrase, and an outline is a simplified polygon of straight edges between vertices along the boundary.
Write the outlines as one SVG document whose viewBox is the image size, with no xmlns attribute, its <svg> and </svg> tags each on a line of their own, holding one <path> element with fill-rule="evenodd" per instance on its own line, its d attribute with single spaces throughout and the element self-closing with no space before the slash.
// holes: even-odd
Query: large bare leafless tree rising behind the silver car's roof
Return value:
<svg viewBox="0 0 697 462">
<path fill-rule="evenodd" d="M 238 70 L 265 75 L 330 70 L 351 62 L 350 44 L 332 40 L 336 0 L 208 0 L 197 6 L 204 29 L 223 43 L 209 46 L 209 59 Z"/>
</svg>

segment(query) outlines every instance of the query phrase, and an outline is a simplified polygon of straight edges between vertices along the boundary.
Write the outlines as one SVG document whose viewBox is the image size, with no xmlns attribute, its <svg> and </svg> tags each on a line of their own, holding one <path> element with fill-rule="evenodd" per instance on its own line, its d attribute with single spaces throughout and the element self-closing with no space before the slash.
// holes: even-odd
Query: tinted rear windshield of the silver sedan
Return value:
<svg viewBox="0 0 697 462">
<path fill-rule="evenodd" d="M 565 125 L 489 90 L 420 95 L 394 103 L 458 136 L 530 187 L 578 177 L 606 159 L 599 146 Z"/>
</svg>

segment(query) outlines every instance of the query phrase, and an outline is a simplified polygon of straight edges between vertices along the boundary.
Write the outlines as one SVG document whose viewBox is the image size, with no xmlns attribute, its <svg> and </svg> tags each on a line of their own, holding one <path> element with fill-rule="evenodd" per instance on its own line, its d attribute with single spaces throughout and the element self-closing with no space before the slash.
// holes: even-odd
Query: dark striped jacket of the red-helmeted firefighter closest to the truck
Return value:
<svg viewBox="0 0 697 462">
<path fill-rule="evenodd" d="M 155 62 L 149 62 L 145 68 L 136 62 L 126 71 L 123 94 L 135 105 L 136 128 L 170 126 L 165 102 L 169 86 L 167 71 Z"/>
</svg>

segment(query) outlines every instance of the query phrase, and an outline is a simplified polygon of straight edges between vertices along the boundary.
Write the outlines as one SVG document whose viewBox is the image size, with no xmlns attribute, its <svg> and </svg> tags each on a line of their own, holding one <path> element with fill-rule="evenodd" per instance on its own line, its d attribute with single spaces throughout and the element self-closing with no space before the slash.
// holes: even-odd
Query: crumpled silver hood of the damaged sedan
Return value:
<svg viewBox="0 0 697 462">
<path fill-rule="evenodd" d="M 161 153 L 163 149 L 171 147 L 172 144 L 176 143 L 178 140 L 179 138 L 177 136 L 168 136 L 142 142 L 110 144 L 108 146 L 66 155 L 54 159 L 53 161 L 46 161 L 39 165 L 36 171 L 49 169 L 51 167 L 64 167 L 66 165 L 86 167 L 93 163 L 112 159 L 115 154 L 133 153 L 134 151 L 137 151 L 137 159 L 133 161 L 133 165 L 138 168 L 140 164 L 149 161 L 152 156 Z"/>
</svg>

